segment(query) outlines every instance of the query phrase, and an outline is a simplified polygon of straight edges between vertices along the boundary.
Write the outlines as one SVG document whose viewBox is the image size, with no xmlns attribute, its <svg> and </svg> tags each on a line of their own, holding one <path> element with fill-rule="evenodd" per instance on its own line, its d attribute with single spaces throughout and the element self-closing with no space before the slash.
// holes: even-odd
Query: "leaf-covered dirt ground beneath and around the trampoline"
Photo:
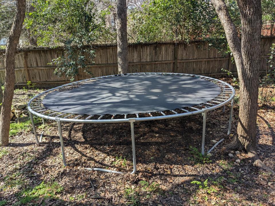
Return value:
<svg viewBox="0 0 275 206">
<path fill-rule="evenodd" d="M 17 90 L 14 103 L 39 92 Z M 222 108 L 207 113 L 206 151 L 225 138 L 211 156 L 200 155 L 201 115 L 135 123 L 133 175 L 129 123 L 62 123 L 64 167 L 56 122 L 42 125 L 36 119 L 38 134 L 44 131 L 41 146 L 28 125 L 10 137 L 9 146 L 0 147 L 0 205 L 275 205 L 274 175 L 254 167 L 245 152 L 224 147 L 236 134 L 237 103 L 238 98 L 230 135 L 229 105 L 225 113 Z M 270 101 L 258 110 L 257 152 L 273 170 L 274 130 L 275 102 Z"/>
</svg>

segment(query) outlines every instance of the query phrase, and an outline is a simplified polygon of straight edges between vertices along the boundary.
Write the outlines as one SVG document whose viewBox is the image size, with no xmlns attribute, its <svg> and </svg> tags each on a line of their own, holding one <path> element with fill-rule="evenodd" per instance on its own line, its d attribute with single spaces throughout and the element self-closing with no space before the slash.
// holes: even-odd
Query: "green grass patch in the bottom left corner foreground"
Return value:
<svg viewBox="0 0 275 206">
<path fill-rule="evenodd" d="M 60 193 L 62 190 L 63 187 L 61 187 L 57 182 L 44 183 L 43 181 L 33 189 L 23 191 L 21 193 L 21 197 L 23 197 L 20 199 L 20 203 L 27 204 L 40 197 L 43 197 L 44 199 L 56 198 L 55 195 Z"/>
</svg>

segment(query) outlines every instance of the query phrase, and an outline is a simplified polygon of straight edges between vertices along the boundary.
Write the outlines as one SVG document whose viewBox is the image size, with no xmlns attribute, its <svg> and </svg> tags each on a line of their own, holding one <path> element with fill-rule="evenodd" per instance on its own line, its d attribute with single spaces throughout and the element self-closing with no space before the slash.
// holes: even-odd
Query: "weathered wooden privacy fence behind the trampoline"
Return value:
<svg viewBox="0 0 275 206">
<path fill-rule="evenodd" d="M 275 38 L 262 38 L 261 68 L 266 70 L 266 58 Z M 229 55 L 223 56 L 217 49 L 207 42 L 194 41 L 190 44 L 183 42 L 154 42 L 129 44 L 129 71 L 130 72 L 176 72 L 188 74 L 202 74 L 205 76 L 224 75 L 221 69 L 236 73 L 235 64 L 231 64 Z M 4 51 L 0 59 L 0 82 L 5 80 Z M 56 66 L 49 65 L 52 59 L 57 58 L 63 48 L 57 49 L 19 49 L 15 58 L 15 85 L 25 85 L 27 81 L 36 83 L 36 86 L 50 87 L 70 81 L 65 76 L 54 75 Z M 117 74 L 116 45 L 97 45 L 95 64 L 91 65 L 94 76 Z M 83 71 L 75 77 L 76 80 L 91 78 Z"/>
</svg>

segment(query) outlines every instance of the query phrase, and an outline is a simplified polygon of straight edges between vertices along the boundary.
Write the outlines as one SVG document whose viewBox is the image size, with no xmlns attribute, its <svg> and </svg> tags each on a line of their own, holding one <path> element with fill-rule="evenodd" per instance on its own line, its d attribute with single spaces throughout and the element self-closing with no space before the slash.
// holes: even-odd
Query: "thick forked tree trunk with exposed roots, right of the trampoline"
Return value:
<svg viewBox="0 0 275 206">
<path fill-rule="evenodd" d="M 256 153 L 256 121 L 258 110 L 258 77 L 262 11 L 260 0 L 237 0 L 241 14 L 241 41 L 224 0 L 211 0 L 225 30 L 229 47 L 237 66 L 240 84 L 239 122 L 231 149 L 246 150 L 257 164 L 262 164 Z M 262 165 L 261 165 L 262 166 Z"/>
</svg>

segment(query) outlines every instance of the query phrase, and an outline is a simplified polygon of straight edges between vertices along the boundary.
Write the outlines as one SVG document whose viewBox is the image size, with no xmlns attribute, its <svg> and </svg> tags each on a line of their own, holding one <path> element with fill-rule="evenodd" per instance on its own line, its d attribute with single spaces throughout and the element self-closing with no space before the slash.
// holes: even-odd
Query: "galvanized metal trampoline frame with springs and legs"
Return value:
<svg viewBox="0 0 275 206">
<path fill-rule="evenodd" d="M 85 119 L 81 119 L 84 115 L 78 115 L 78 114 L 68 114 L 68 113 L 62 113 L 62 112 L 56 112 L 54 110 L 50 110 L 43 105 L 41 105 L 43 97 L 47 95 L 47 93 L 52 92 L 54 90 L 64 88 L 66 86 L 72 86 L 74 84 L 78 84 L 80 82 L 87 82 L 90 80 L 97 80 L 97 79 L 102 79 L 102 78 L 111 78 L 114 76 L 123 76 L 123 75 L 150 75 L 150 74 L 160 74 L 160 75 L 176 75 L 176 76 L 187 76 L 187 77 L 195 77 L 195 78 L 201 78 L 204 80 L 208 80 L 210 82 L 213 82 L 217 84 L 221 88 L 221 93 L 214 99 L 194 105 L 194 106 L 189 106 L 185 107 L 188 108 L 188 110 L 184 108 L 179 108 L 182 110 L 184 113 L 177 113 L 174 110 L 170 110 L 174 114 L 165 114 L 165 111 L 160 111 L 160 112 L 145 112 L 147 113 L 149 117 L 139 117 L 138 114 L 136 114 L 136 118 L 127 118 L 127 114 L 125 114 L 124 119 L 115 119 L 115 114 L 111 117 L 111 119 L 102 119 L 105 114 L 102 114 L 99 116 L 98 119 L 93 119 L 91 120 L 94 115 L 90 115 Z M 232 121 L 232 114 L 233 114 L 233 104 L 234 104 L 234 96 L 235 96 L 235 90 L 234 88 L 221 80 L 211 78 L 211 77 L 206 77 L 206 76 L 201 76 L 201 75 L 195 75 L 195 74 L 180 74 L 180 73 L 156 73 L 156 72 L 150 72 L 150 73 L 129 73 L 129 74 L 117 74 L 117 75 L 109 75 L 109 76 L 102 76 L 102 77 L 95 77 L 95 78 L 90 78 L 86 80 L 80 80 L 77 82 L 72 82 L 69 84 L 64 84 L 62 86 L 58 86 L 49 90 L 46 90 L 36 96 L 34 96 L 29 102 L 28 102 L 28 110 L 30 114 L 30 119 L 32 122 L 32 127 L 34 130 L 34 135 L 36 138 L 36 143 L 39 146 L 40 142 L 42 142 L 43 134 L 44 131 L 40 135 L 40 140 L 38 139 L 38 135 L 36 132 L 35 124 L 34 124 L 34 119 L 33 115 L 41 117 L 42 118 L 42 123 L 45 124 L 45 120 L 53 120 L 56 121 L 58 124 L 58 131 L 59 131 L 59 137 L 60 137 L 60 145 L 61 145 L 61 151 L 62 151 L 62 159 L 63 159 L 63 164 L 66 167 L 66 157 L 65 157 L 65 150 L 64 150 L 64 143 L 63 143 L 63 136 L 62 136 L 62 126 L 61 122 L 75 122 L 75 123 L 122 123 L 122 122 L 129 122 L 131 126 L 131 141 L 132 141 L 132 155 L 133 155 L 133 171 L 131 174 L 136 172 L 136 155 L 135 155 L 135 133 L 134 133 L 134 122 L 140 122 L 140 121 L 150 121 L 150 120 L 161 120 L 161 119 L 170 119 L 170 118 L 179 118 L 183 116 L 190 116 L 190 115 L 195 115 L 195 114 L 202 114 L 203 116 L 203 131 L 202 131 L 202 143 L 201 143 L 201 153 L 204 155 L 204 147 L 205 147 L 205 128 L 206 128 L 206 116 L 207 112 L 211 110 L 215 110 L 219 107 L 223 106 L 223 112 L 225 110 L 225 104 L 231 102 L 231 110 L 230 110 L 230 116 L 229 116 L 229 125 L 228 125 L 228 132 L 227 134 L 230 134 L 231 131 L 231 121 Z M 192 111 L 189 111 L 192 110 Z M 168 111 L 168 110 L 166 110 Z M 61 113 L 61 114 L 60 114 Z M 160 114 L 160 116 L 153 116 L 151 113 L 156 113 Z M 141 114 L 141 113 L 139 113 Z M 144 113 L 142 113 L 144 114 Z M 76 115 L 74 117 L 74 115 Z M 217 144 L 215 144 L 209 152 L 215 147 Z M 120 173 L 118 171 L 112 171 L 112 170 L 107 170 L 107 169 L 101 169 L 101 168 L 85 168 L 88 170 L 94 170 L 94 171 L 104 171 L 104 172 L 111 172 L 111 173 Z"/>
</svg>

